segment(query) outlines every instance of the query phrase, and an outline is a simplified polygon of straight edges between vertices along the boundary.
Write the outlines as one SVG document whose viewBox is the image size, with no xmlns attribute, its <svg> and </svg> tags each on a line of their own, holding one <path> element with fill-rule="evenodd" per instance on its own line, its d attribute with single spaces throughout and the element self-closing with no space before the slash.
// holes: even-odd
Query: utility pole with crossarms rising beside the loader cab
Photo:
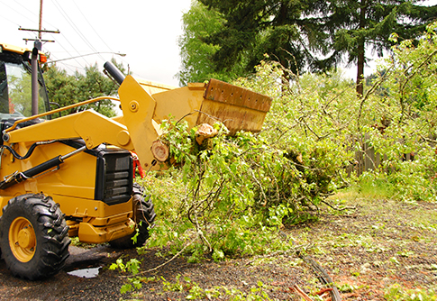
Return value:
<svg viewBox="0 0 437 301">
<path fill-rule="evenodd" d="M 26 32 L 38 32 L 37 39 L 23 39 L 24 41 L 34 41 L 32 49 L 32 115 L 38 114 L 38 90 L 40 85 L 38 85 L 38 53 L 42 50 L 42 42 L 50 40 L 42 40 L 42 32 L 59 33 L 59 31 L 46 31 L 42 30 L 42 0 L 40 0 L 40 23 L 38 29 L 24 29 L 22 27 L 18 28 L 19 31 Z"/>
</svg>

